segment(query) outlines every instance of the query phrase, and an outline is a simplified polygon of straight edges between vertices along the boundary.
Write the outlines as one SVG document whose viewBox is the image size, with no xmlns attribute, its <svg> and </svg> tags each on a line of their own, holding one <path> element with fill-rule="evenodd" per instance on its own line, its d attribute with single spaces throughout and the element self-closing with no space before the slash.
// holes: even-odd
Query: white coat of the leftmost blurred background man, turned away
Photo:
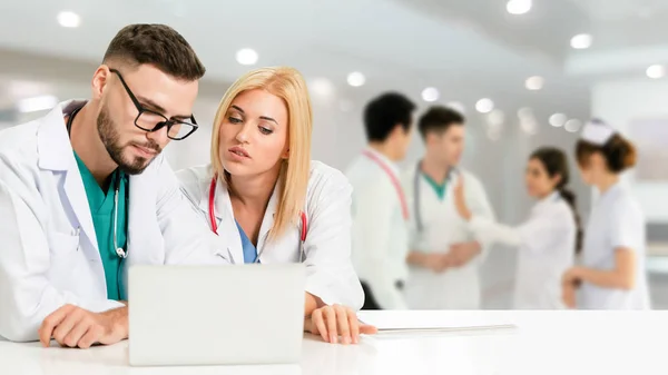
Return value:
<svg viewBox="0 0 668 375">
<path fill-rule="evenodd" d="M 367 150 L 400 178 L 390 159 L 371 148 Z M 397 191 L 382 167 L 364 155 L 353 160 L 345 175 L 353 185 L 355 270 L 383 309 L 405 309 L 397 282 L 404 283 L 407 277 L 409 231 Z"/>
</svg>

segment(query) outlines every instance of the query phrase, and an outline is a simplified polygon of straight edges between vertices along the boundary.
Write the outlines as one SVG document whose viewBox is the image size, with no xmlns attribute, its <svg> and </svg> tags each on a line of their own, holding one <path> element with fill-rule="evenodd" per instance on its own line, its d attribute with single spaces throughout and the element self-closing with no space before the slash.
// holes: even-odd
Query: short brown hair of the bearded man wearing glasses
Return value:
<svg viewBox="0 0 668 375">
<path fill-rule="evenodd" d="M 132 67 L 148 63 L 187 81 L 202 78 L 206 71 L 186 39 L 165 24 L 138 23 L 122 28 L 105 53 L 102 63 L 109 62 Z"/>
</svg>

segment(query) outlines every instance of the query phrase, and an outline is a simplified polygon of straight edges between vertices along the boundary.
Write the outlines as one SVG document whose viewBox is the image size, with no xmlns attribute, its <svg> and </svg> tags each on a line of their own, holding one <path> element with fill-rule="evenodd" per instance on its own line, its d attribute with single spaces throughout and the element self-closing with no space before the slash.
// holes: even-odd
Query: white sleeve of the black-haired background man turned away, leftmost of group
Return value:
<svg viewBox="0 0 668 375">
<path fill-rule="evenodd" d="M 355 191 L 355 228 L 360 241 L 358 257 L 364 259 L 364 282 L 369 284 L 376 302 L 384 309 L 406 309 L 406 304 L 393 279 L 391 259 L 387 256 L 392 238 L 392 215 L 396 208 L 390 204 L 396 199 L 396 190 L 384 179 Z M 407 244 L 406 244 L 407 246 Z"/>
</svg>

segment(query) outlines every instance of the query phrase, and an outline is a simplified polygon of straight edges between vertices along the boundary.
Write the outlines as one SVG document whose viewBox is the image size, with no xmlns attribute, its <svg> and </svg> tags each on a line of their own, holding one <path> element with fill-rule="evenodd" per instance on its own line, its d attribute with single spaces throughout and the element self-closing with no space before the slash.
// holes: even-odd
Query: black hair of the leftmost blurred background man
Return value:
<svg viewBox="0 0 668 375">
<path fill-rule="evenodd" d="M 364 108 L 366 139 L 385 141 L 397 125 L 410 130 L 415 105 L 397 92 L 386 92 L 371 100 Z"/>
</svg>

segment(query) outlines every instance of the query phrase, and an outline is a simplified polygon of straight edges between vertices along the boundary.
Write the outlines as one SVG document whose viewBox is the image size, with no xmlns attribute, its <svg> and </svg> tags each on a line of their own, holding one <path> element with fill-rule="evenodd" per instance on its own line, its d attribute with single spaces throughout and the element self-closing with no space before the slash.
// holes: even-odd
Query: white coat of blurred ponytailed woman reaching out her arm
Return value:
<svg viewBox="0 0 668 375">
<path fill-rule="evenodd" d="M 518 247 L 514 286 L 517 309 L 562 309 L 561 279 L 573 265 L 577 225 L 559 193 L 540 200 L 529 219 L 509 227 L 474 216 L 470 227 L 487 241 Z"/>
</svg>

